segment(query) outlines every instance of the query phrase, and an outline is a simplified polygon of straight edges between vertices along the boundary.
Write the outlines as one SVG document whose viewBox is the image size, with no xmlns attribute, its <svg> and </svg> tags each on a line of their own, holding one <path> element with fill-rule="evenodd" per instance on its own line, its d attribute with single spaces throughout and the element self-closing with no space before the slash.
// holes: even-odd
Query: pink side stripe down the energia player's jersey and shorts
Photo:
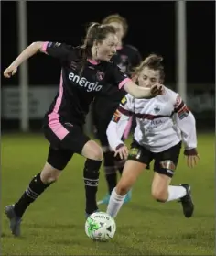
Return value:
<svg viewBox="0 0 216 256">
<path fill-rule="evenodd" d="M 62 95 L 63 95 L 63 79 L 62 79 L 62 73 L 60 75 L 60 84 L 59 84 L 59 97 L 57 98 L 56 105 L 53 108 L 52 113 L 49 114 L 49 128 L 55 133 L 55 135 L 60 139 L 64 139 L 67 134 L 69 134 L 69 131 L 64 128 L 61 123 L 59 122 L 59 107 L 62 101 Z"/>
</svg>

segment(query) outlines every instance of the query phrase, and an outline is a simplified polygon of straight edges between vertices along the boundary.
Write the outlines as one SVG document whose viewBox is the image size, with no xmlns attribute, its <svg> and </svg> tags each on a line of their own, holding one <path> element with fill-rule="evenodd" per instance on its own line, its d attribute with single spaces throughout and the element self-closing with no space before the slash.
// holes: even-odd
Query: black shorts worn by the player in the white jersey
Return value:
<svg viewBox="0 0 216 256">
<path fill-rule="evenodd" d="M 180 149 L 181 141 L 165 151 L 154 153 L 146 150 L 146 148 L 134 140 L 131 143 L 128 160 L 138 161 L 146 165 L 149 165 L 152 160 L 155 160 L 154 171 L 172 177 L 178 165 Z"/>
</svg>

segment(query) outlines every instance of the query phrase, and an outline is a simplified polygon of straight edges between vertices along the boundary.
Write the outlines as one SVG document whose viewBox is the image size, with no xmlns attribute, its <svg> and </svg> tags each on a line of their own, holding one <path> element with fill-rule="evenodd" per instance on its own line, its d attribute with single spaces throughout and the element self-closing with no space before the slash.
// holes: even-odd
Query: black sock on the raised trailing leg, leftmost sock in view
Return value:
<svg viewBox="0 0 216 256">
<path fill-rule="evenodd" d="M 38 173 L 31 180 L 30 184 L 27 187 L 27 190 L 20 197 L 18 202 L 16 202 L 15 208 L 14 208 L 16 216 L 22 217 L 27 209 L 27 206 L 29 206 L 31 203 L 33 203 L 38 198 L 38 196 L 41 195 L 49 185 L 50 184 L 42 183 L 42 181 L 40 179 L 40 173 Z"/>
</svg>

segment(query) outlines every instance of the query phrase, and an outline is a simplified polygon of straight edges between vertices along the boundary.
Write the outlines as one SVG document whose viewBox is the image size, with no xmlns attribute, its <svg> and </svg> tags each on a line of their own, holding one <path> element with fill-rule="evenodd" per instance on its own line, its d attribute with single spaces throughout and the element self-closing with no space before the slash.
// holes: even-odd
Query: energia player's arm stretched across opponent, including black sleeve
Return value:
<svg viewBox="0 0 216 256">
<path fill-rule="evenodd" d="M 120 69 L 113 65 L 110 71 L 111 83 L 117 84 L 118 88 L 122 88 L 135 98 L 148 98 L 156 95 L 163 94 L 164 87 L 161 84 L 156 84 L 152 88 L 144 88 L 137 86 L 126 74 L 120 71 Z"/>
</svg>

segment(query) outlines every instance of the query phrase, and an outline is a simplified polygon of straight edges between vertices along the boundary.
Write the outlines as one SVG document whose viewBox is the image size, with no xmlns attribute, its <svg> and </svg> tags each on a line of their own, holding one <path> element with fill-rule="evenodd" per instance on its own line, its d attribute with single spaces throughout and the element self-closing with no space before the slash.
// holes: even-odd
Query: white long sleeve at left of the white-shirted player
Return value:
<svg viewBox="0 0 216 256">
<path fill-rule="evenodd" d="M 106 130 L 107 139 L 112 150 L 116 150 L 120 144 L 124 144 L 121 138 L 133 116 L 133 105 L 133 97 L 129 94 L 125 95 L 113 114 L 113 118 Z"/>
</svg>

